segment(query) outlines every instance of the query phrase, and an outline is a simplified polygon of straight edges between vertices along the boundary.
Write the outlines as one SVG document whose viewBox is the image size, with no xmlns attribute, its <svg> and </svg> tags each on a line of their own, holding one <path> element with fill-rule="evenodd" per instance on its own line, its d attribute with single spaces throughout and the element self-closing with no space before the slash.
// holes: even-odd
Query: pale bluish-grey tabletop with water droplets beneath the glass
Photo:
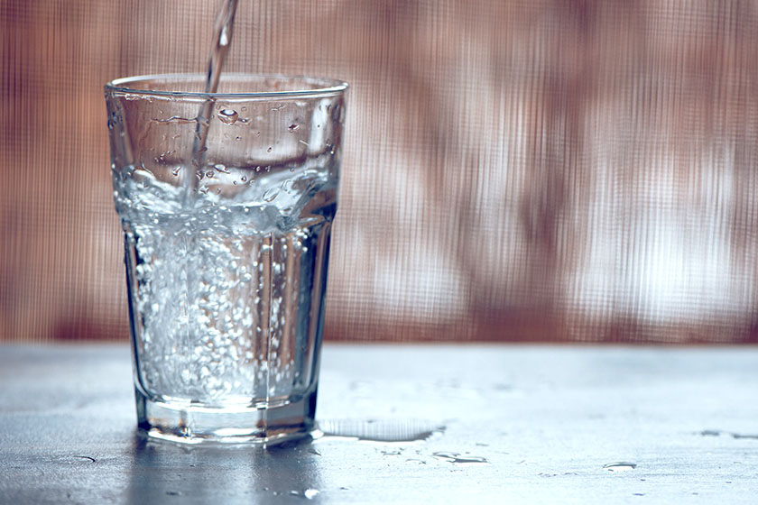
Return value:
<svg viewBox="0 0 758 505">
<path fill-rule="evenodd" d="M 326 344 L 325 436 L 135 433 L 126 345 L 0 346 L 0 503 L 754 503 L 758 348 Z"/>
</svg>

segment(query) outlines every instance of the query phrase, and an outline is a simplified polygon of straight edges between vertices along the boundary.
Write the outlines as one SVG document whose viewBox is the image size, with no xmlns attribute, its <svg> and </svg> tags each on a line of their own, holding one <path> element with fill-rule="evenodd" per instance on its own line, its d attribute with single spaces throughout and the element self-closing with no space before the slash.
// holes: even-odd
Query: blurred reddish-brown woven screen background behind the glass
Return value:
<svg viewBox="0 0 758 505">
<path fill-rule="evenodd" d="M 126 340 L 102 85 L 220 0 L 0 2 L 0 340 Z M 758 342 L 758 6 L 240 0 L 229 71 L 346 79 L 328 339 Z"/>
</svg>

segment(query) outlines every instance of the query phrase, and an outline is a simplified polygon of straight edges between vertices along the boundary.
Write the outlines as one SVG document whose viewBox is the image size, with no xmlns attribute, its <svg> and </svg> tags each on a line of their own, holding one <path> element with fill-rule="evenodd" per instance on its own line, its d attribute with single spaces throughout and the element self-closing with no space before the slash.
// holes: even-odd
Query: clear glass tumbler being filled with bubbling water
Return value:
<svg viewBox="0 0 758 505">
<path fill-rule="evenodd" d="M 310 431 L 341 81 L 230 74 L 105 87 L 139 427 L 183 442 Z"/>
</svg>

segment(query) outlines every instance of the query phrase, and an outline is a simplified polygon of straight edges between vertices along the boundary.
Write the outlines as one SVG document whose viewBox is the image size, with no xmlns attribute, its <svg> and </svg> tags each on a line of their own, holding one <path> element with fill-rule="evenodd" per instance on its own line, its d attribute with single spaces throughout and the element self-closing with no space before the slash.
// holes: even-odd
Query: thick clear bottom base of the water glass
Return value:
<svg viewBox="0 0 758 505">
<path fill-rule="evenodd" d="M 316 390 L 275 407 L 209 408 L 148 398 L 138 388 L 137 423 L 147 436 L 182 444 L 275 445 L 314 429 Z"/>
</svg>

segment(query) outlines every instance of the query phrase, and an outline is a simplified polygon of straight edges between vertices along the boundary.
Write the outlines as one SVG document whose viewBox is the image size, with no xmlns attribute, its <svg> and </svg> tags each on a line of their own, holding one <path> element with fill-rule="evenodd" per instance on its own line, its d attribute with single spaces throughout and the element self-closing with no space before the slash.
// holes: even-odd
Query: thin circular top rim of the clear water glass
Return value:
<svg viewBox="0 0 758 505">
<path fill-rule="evenodd" d="M 145 87 L 130 86 L 138 85 L 141 82 L 147 82 L 152 80 L 164 80 L 180 82 L 182 80 L 194 80 L 199 79 L 200 82 L 205 81 L 206 75 L 200 73 L 185 73 L 185 74 L 148 74 L 142 76 L 132 76 L 126 78 L 116 78 L 106 83 L 104 89 L 106 93 L 125 93 L 129 95 L 141 95 L 141 96 L 171 96 L 171 97 L 185 97 L 185 98 L 266 98 L 277 97 L 284 98 L 288 96 L 303 97 L 303 96 L 328 96 L 342 93 L 347 90 L 347 82 L 340 79 L 333 78 L 311 78 L 307 76 L 290 76 L 283 74 L 249 74 L 249 73 L 224 73 L 221 75 L 221 82 L 234 78 L 278 78 L 288 81 L 301 81 L 303 83 L 312 83 L 316 85 L 313 88 L 294 89 L 287 91 L 249 91 L 242 93 L 206 93 L 205 91 L 169 91 L 162 89 L 145 89 Z"/>
</svg>

